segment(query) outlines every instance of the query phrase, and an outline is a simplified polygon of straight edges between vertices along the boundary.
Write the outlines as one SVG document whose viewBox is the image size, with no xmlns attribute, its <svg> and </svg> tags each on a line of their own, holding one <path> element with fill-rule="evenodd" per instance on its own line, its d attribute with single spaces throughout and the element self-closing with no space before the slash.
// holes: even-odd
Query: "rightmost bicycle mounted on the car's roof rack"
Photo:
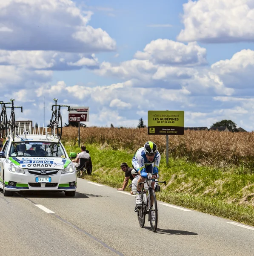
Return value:
<svg viewBox="0 0 254 256">
<path fill-rule="evenodd" d="M 63 119 L 62 119 L 62 115 L 61 115 L 61 107 L 67 107 L 68 111 L 70 110 L 70 106 L 67 105 L 57 105 L 57 101 L 58 99 L 53 99 L 55 102 L 55 105 L 52 105 L 51 111 L 52 112 L 52 116 L 50 119 L 50 124 L 49 126 L 51 127 L 51 134 L 54 136 L 54 129 L 57 129 L 57 137 L 60 140 L 62 137 L 62 130 L 63 130 Z M 54 109 L 55 107 L 55 109 Z M 57 110 L 58 107 L 58 110 Z"/>
</svg>

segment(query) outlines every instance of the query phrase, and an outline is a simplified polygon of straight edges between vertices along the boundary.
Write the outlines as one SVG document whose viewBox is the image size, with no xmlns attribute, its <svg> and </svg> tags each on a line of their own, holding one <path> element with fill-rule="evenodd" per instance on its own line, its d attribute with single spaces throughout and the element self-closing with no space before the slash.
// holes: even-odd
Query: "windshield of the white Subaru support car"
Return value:
<svg viewBox="0 0 254 256">
<path fill-rule="evenodd" d="M 60 143 L 53 142 L 13 142 L 11 157 L 66 157 Z"/>
</svg>

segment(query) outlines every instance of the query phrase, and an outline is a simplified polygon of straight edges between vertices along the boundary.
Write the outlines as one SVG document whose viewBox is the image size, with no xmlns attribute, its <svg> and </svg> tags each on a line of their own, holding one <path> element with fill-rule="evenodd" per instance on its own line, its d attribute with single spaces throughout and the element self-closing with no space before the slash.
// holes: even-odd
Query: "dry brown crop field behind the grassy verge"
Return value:
<svg viewBox="0 0 254 256">
<path fill-rule="evenodd" d="M 76 143 L 78 128 L 64 127 L 62 140 Z M 165 135 L 148 135 L 147 128 L 80 128 L 81 143 L 105 144 L 113 149 L 135 151 L 148 140 L 166 153 Z M 74 145 L 73 144 L 73 145 Z M 171 157 L 184 157 L 195 163 L 219 166 L 254 167 L 254 132 L 185 131 L 184 135 L 169 136 Z"/>
</svg>

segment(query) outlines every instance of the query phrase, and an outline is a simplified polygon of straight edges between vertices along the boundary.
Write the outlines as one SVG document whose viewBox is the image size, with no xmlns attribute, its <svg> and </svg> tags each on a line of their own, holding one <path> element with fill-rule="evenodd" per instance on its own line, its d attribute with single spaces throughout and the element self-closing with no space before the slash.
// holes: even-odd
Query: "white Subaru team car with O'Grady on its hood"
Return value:
<svg viewBox="0 0 254 256">
<path fill-rule="evenodd" d="M 0 189 L 4 196 L 19 191 L 64 191 L 75 196 L 76 168 L 62 143 L 46 135 L 9 138 L 0 151 Z"/>
</svg>

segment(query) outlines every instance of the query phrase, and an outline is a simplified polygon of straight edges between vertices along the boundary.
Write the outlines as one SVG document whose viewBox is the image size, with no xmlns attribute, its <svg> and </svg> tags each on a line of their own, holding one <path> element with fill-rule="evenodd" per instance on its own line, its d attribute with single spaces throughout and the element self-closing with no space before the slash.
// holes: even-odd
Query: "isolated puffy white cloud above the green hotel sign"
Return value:
<svg viewBox="0 0 254 256">
<path fill-rule="evenodd" d="M 150 60 L 154 64 L 184 66 L 207 64 L 206 49 L 196 42 L 185 45 L 168 39 L 151 41 L 143 52 L 136 52 L 134 58 Z"/>
</svg>

